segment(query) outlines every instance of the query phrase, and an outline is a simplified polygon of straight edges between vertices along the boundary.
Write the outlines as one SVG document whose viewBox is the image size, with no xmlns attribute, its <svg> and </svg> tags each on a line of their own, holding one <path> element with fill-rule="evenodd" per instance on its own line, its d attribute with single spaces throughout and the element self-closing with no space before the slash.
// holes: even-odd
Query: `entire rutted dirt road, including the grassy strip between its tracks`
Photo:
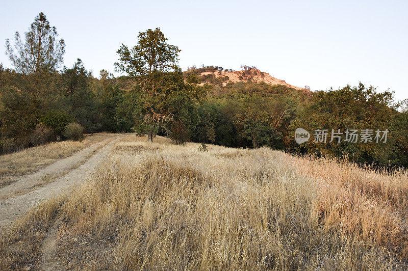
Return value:
<svg viewBox="0 0 408 271">
<path fill-rule="evenodd" d="M 74 184 L 83 182 L 121 138 L 116 136 L 96 143 L 0 188 L 0 230 L 20 218 L 39 201 L 67 193 Z M 55 178 L 44 182 L 44 176 Z M 2 198 L 4 200 L 1 200 Z"/>
</svg>

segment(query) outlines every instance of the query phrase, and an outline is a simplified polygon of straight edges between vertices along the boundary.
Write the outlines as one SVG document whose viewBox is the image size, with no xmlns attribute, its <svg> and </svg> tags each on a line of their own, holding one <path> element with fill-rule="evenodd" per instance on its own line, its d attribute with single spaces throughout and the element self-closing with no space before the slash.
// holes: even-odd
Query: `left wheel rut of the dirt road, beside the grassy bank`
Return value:
<svg viewBox="0 0 408 271">
<path fill-rule="evenodd" d="M 30 189 L 33 189 L 39 185 L 46 184 L 54 179 L 63 176 L 76 166 L 83 164 L 83 162 L 89 158 L 95 151 L 105 146 L 108 142 L 112 141 L 114 137 L 106 139 L 104 141 L 95 143 L 88 148 L 78 151 L 73 155 L 58 160 L 53 164 L 40 169 L 32 174 L 19 177 L 17 181 L 0 188 L 0 202 L 18 193 L 19 195 L 25 194 Z"/>
</svg>

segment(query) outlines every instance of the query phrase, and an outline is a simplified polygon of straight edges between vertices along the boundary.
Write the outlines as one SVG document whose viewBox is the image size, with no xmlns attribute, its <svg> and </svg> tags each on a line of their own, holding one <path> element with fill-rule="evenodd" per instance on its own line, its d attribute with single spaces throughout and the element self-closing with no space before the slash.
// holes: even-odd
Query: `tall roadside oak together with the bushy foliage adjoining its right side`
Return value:
<svg viewBox="0 0 408 271">
<path fill-rule="evenodd" d="M 183 73 L 177 67 L 179 48 L 167 43 L 159 28 L 148 29 L 138 35 L 138 43 L 131 49 L 119 48 L 116 70 L 135 79 L 139 88 L 134 101 L 133 116 L 136 129 L 147 133 L 148 140 L 162 131 L 170 134 L 174 142 L 189 138 L 188 107 L 193 99 L 202 96 L 196 86 L 197 78 L 191 77 L 186 84 Z M 124 105 L 124 104 L 122 104 Z"/>
</svg>

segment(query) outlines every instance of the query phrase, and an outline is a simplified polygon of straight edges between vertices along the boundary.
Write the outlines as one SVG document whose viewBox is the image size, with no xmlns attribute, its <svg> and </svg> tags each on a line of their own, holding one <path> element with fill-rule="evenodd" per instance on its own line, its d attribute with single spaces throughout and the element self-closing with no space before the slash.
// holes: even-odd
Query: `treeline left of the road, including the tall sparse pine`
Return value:
<svg viewBox="0 0 408 271">
<path fill-rule="evenodd" d="M 82 138 L 83 132 L 130 131 L 132 123 L 116 119 L 124 91 L 113 76 L 94 78 L 78 59 L 63 67 L 65 42 L 43 13 L 24 38 L 6 40 L 14 69 L 0 65 L 0 153 L 46 142 Z"/>
</svg>

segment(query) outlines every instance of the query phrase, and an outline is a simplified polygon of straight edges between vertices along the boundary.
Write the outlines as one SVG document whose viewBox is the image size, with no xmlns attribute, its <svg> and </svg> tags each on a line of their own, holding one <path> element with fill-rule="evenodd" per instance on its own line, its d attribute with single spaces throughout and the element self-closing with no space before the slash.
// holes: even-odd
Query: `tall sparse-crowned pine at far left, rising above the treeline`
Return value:
<svg viewBox="0 0 408 271">
<path fill-rule="evenodd" d="M 15 44 L 6 40 L 6 55 L 15 73 L 8 86 L 2 86 L 3 131 L 7 136 L 27 135 L 38 123 L 50 97 L 54 74 L 63 61 L 64 40 L 58 40 L 55 26 L 50 26 L 41 12 L 22 40 L 15 33 Z"/>
</svg>

